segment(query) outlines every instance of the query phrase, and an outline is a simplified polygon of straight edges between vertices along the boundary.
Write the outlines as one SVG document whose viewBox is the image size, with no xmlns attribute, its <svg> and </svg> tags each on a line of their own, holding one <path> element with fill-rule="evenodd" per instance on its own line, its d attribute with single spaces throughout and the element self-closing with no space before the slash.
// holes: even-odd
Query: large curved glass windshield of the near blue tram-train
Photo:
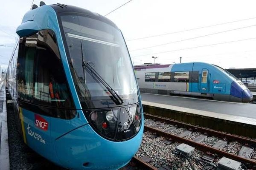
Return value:
<svg viewBox="0 0 256 170">
<path fill-rule="evenodd" d="M 83 108 L 108 108 L 139 101 L 125 41 L 121 31 L 108 22 L 78 14 L 61 16 L 66 51 L 72 63 L 73 80 Z M 114 102 L 109 89 L 83 67 L 83 61 L 107 82 L 122 102 Z"/>
</svg>

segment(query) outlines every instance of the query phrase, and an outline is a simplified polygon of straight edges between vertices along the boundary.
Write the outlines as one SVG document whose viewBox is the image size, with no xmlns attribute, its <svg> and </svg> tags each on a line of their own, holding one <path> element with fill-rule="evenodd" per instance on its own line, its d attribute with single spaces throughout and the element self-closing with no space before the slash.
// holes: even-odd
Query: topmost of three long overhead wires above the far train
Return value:
<svg viewBox="0 0 256 170">
<path fill-rule="evenodd" d="M 224 24 L 236 23 L 236 22 L 241 22 L 241 21 L 246 21 L 246 20 L 253 20 L 253 19 L 256 19 L 256 17 L 246 18 L 246 19 L 242 19 L 242 20 L 235 20 L 235 21 L 230 21 L 230 22 L 226 22 L 226 23 L 219 23 L 219 24 L 214 24 L 214 25 L 209 25 L 209 26 L 191 28 L 191 29 L 186 29 L 186 30 L 182 30 L 182 31 L 169 32 L 169 33 L 165 33 L 165 34 L 157 34 L 157 35 L 151 35 L 151 36 L 147 36 L 147 37 L 134 38 L 134 39 L 131 39 L 131 40 L 126 40 L 126 41 L 142 40 L 142 39 L 151 38 L 151 37 L 159 37 L 159 36 L 168 35 L 168 34 L 176 34 L 176 33 L 180 33 L 180 32 L 193 31 L 193 30 L 197 30 L 197 29 L 201 29 L 201 28 L 221 26 L 221 25 L 224 25 Z"/>
</svg>

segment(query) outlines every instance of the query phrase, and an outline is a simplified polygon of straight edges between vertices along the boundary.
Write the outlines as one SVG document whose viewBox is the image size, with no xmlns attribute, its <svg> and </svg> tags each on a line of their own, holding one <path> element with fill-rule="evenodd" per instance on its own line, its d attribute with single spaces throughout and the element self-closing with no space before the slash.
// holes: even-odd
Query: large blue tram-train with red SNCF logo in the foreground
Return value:
<svg viewBox="0 0 256 170">
<path fill-rule="evenodd" d="M 116 170 L 143 135 L 140 93 L 121 31 L 63 4 L 33 5 L 7 71 L 17 127 L 35 152 L 73 170 Z"/>
</svg>

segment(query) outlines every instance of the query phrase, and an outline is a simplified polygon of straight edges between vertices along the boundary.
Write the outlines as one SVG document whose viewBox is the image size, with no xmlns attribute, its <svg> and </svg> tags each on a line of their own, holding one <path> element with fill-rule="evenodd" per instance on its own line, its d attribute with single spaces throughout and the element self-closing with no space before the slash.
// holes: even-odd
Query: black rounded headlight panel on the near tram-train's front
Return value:
<svg viewBox="0 0 256 170">
<path fill-rule="evenodd" d="M 102 137 L 114 141 L 130 139 L 142 124 L 140 105 L 85 111 L 90 126 Z"/>
</svg>

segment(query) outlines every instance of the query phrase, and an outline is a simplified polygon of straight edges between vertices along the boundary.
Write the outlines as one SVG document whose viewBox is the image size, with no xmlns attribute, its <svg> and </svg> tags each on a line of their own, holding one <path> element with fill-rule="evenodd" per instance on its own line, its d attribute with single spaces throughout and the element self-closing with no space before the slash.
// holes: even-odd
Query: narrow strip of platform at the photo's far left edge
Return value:
<svg viewBox="0 0 256 170">
<path fill-rule="evenodd" d="M 9 144 L 5 83 L 0 82 L 0 169 L 9 170 Z"/>
</svg>

